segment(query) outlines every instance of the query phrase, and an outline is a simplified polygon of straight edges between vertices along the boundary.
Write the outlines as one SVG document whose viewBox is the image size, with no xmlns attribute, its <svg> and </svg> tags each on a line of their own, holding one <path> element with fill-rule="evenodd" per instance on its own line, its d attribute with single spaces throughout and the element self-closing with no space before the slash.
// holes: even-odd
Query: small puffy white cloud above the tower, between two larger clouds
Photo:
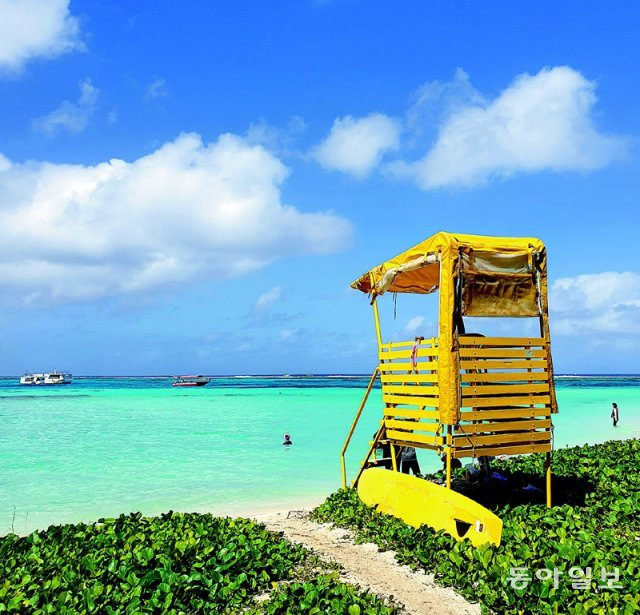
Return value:
<svg viewBox="0 0 640 615">
<path fill-rule="evenodd" d="M 381 113 L 363 118 L 347 115 L 333 122 L 329 136 L 313 150 L 315 159 L 326 169 L 365 178 L 382 155 L 397 149 L 399 123 Z"/>
</svg>

